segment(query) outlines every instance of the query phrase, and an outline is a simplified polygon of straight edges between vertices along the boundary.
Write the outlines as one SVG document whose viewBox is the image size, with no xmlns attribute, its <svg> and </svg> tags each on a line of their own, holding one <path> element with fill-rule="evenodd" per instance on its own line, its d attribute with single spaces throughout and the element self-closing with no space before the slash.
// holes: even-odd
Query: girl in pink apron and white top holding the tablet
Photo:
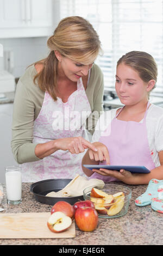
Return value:
<svg viewBox="0 0 163 256">
<path fill-rule="evenodd" d="M 98 151 L 88 149 L 82 161 L 82 164 L 145 166 L 151 173 L 103 168 L 92 172 L 83 167 L 87 176 L 127 184 L 163 179 L 163 109 L 148 101 L 157 74 L 156 63 L 146 52 L 132 51 L 118 60 L 115 88 L 124 106 L 109 111 L 110 125 L 103 133 L 95 129 L 92 143 Z M 97 127 L 105 114 L 99 118 Z"/>
</svg>

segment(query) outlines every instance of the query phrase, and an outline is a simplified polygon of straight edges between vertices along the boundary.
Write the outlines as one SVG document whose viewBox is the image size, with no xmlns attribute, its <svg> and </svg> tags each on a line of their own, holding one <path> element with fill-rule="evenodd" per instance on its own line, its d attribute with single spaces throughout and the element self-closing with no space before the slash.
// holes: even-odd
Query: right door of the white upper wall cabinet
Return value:
<svg viewBox="0 0 163 256">
<path fill-rule="evenodd" d="M 27 20 L 32 27 L 52 26 L 52 1 L 27 0 Z M 29 10 L 30 9 L 30 10 Z"/>
</svg>

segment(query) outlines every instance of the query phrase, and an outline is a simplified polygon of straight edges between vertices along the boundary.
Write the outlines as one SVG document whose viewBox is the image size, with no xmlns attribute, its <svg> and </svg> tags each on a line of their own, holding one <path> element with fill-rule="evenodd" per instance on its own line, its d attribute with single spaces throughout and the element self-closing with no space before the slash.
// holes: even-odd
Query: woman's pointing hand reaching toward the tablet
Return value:
<svg viewBox="0 0 163 256">
<path fill-rule="evenodd" d="M 84 152 L 85 149 L 90 148 L 92 151 L 96 151 L 95 145 L 86 141 L 83 137 L 70 137 L 57 139 L 55 146 L 61 150 L 69 150 L 71 154 L 79 154 Z"/>
</svg>

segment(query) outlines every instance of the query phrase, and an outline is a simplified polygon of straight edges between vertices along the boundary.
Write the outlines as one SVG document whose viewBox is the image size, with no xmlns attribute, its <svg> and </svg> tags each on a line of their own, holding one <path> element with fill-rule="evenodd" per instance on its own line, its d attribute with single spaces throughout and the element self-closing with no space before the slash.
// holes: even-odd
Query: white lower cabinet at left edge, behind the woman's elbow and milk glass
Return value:
<svg viewBox="0 0 163 256">
<path fill-rule="evenodd" d="M 0 104 L 0 183 L 5 182 L 5 166 L 18 165 L 11 151 L 13 104 Z"/>
</svg>

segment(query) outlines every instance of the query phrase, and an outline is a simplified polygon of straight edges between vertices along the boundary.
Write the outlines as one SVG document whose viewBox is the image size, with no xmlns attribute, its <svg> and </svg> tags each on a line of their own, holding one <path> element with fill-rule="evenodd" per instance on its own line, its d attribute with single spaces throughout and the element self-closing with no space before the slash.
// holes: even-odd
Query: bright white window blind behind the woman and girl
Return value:
<svg viewBox="0 0 163 256">
<path fill-rule="evenodd" d="M 146 51 L 158 65 L 153 93 L 163 93 L 162 0 L 60 0 L 60 18 L 79 15 L 99 34 L 103 56 L 96 63 L 104 74 L 105 90 L 114 90 L 117 60 L 129 51 Z"/>
</svg>

